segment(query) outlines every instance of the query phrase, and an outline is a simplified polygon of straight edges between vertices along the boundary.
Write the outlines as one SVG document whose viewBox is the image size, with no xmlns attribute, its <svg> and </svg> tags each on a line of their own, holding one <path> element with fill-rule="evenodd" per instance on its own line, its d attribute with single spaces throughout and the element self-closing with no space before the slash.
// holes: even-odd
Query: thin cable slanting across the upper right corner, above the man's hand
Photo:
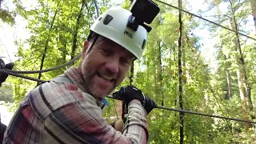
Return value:
<svg viewBox="0 0 256 144">
<path fill-rule="evenodd" d="M 208 20 L 208 19 L 206 19 L 206 18 L 202 18 L 201 16 L 199 16 L 199 15 L 197 15 L 197 14 L 190 13 L 189 11 L 180 9 L 180 8 L 178 8 L 177 6 L 170 5 L 169 3 L 162 2 L 162 1 L 160 1 L 160 0 L 155 0 L 155 1 L 160 2 L 160 3 L 162 3 L 162 4 L 166 5 L 166 6 L 173 7 L 174 9 L 182 10 L 183 12 L 185 12 L 185 13 L 187 13 L 187 14 L 190 14 L 190 15 L 193 15 L 194 17 L 201 18 L 201 19 L 203 19 L 203 20 L 205 20 L 205 21 L 207 21 L 207 22 L 210 22 L 210 23 L 212 23 L 212 24 L 214 24 L 214 25 L 216 25 L 216 26 L 220 26 L 220 27 L 222 27 L 222 28 L 224 28 L 224 29 L 226 29 L 226 30 L 230 30 L 230 31 L 232 31 L 232 32 L 234 32 L 234 33 L 240 34 L 240 35 L 242 35 L 242 36 L 244 36 L 244 37 L 246 37 L 246 38 L 250 38 L 250 39 L 253 39 L 254 41 L 256 41 L 256 38 L 252 38 L 252 37 L 250 37 L 250 36 L 248 36 L 248 35 L 246 35 L 246 34 L 242 34 L 242 33 L 238 32 L 238 31 L 232 30 L 232 29 L 230 29 L 230 28 L 228 28 L 228 27 L 226 27 L 226 26 L 222 26 L 222 25 L 220 25 L 220 24 L 218 24 L 218 23 L 216 23 L 216 22 L 212 22 L 212 21 L 210 21 L 210 20 Z"/>
</svg>

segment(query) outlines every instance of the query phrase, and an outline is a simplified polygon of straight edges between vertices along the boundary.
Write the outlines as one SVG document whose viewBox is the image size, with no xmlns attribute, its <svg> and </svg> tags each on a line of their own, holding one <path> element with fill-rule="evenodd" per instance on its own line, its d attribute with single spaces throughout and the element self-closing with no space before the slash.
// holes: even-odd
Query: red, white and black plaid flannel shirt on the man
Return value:
<svg viewBox="0 0 256 144">
<path fill-rule="evenodd" d="M 82 75 L 65 71 L 69 82 L 45 82 L 20 102 L 3 143 L 146 143 L 146 111 L 130 102 L 121 132 L 102 118 L 103 103 L 86 94 Z"/>
</svg>

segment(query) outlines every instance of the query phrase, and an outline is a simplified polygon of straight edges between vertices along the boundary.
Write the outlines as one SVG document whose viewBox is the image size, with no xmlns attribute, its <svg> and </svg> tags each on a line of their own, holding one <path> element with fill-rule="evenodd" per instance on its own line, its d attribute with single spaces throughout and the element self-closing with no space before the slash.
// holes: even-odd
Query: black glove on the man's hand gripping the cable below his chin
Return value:
<svg viewBox="0 0 256 144">
<path fill-rule="evenodd" d="M 128 106 L 130 101 L 138 99 L 138 101 L 142 103 L 147 114 L 157 107 L 157 104 L 152 99 L 142 94 L 142 90 L 138 90 L 138 88 L 134 86 L 121 87 L 120 90 L 113 94 L 113 97 L 125 102 L 126 106 Z"/>
</svg>

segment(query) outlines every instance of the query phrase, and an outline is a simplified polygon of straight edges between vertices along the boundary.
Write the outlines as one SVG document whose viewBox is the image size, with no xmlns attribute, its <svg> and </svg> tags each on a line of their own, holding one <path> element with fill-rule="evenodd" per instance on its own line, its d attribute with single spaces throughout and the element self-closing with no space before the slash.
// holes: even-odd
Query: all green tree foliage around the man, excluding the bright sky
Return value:
<svg viewBox="0 0 256 144">
<path fill-rule="evenodd" d="M 176 1 L 166 2 L 177 3 Z M 183 2 L 184 9 L 188 5 L 187 2 Z M 39 70 L 40 66 L 46 69 L 68 62 L 70 58 L 81 52 L 83 42 L 89 34 L 90 25 L 97 17 L 93 1 L 38 0 L 35 3 L 36 6 L 31 6 L 30 9 L 22 9 L 27 3 L 15 3 L 17 6 L 15 13 L 26 18 L 27 30 L 31 34 L 26 41 L 17 42 L 19 59 L 15 62 L 15 70 Z M 109 0 L 99 1 L 100 13 L 107 10 L 111 6 L 110 3 Z M 158 106 L 180 109 L 178 102 L 178 10 L 158 4 L 161 11 L 150 24 L 153 30 L 148 34 L 145 53 L 141 59 L 134 62 L 133 85 L 153 98 Z M 219 9 L 222 5 L 228 8 L 226 14 L 222 14 Z M 129 9 L 130 1 L 124 1 L 122 6 Z M 213 8 L 218 16 L 216 20 L 222 25 L 232 27 L 234 23 L 230 23 L 230 18 L 235 16 L 239 30 L 247 30 L 246 18 L 250 15 L 248 2 L 212 1 L 209 2 L 209 6 Z M 233 15 L 231 14 L 232 8 L 236 10 L 232 13 Z M 230 118 L 244 118 L 237 77 L 240 65 L 238 63 L 239 53 L 234 44 L 235 34 L 228 30 L 220 30 L 216 26 L 210 26 L 213 38 L 218 39 L 212 48 L 216 50 L 216 54 L 202 55 L 202 46 L 198 42 L 200 38 L 193 34 L 193 30 L 197 29 L 200 24 L 202 23 L 197 22 L 190 15 L 183 14 L 183 109 Z M 256 101 L 255 44 L 246 38 L 241 38 L 242 54 L 246 61 L 246 74 L 248 74 L 253 102 Z M 45 55 L 44 59 L 43 55 Z M 213 70 L 205 59 L 214 56 L 217 60 L 216 70 Z M 74 66 L 77 65 L 78 62 L 75 62 Z M 68 67 L 44 73 L 42 79 L 54 78 Z M 130 84 L 130 73 L 122 82 L 122 86 Z M 38 74 L 29 75 L 38 78 Z M 37 86 L 36 82 L 22 78 L 11 77 L 8 78 L 8 82 L 13 88 L 15 100 L 13 110 L 26 93 Z M 232 90 L 231 95 L 228 86 Z M 0 95 L 0 98 L 8 100 L 10 97 L 6 95 L 10 94 L 11 89 L 3 88 L 0 94 L 4 93 L 4 96 Z M 121 117 L 122 103 L 110 99 L 109 102 L 110 106 L 106 108 L 103 116 L 107 122 L 113 122 Z M 255 115 L 255 112 L 251 110 L 248 114 Z M 179 143 L 180 119 L 177 112 L 155 109 L 147 117 L 150 131 L 149 143 Z M 183 127 L 185 143 L 250 143 L 256 141 L 254 128 L 246 130 L 242 122 L 185 114 Z"/>
</svg>

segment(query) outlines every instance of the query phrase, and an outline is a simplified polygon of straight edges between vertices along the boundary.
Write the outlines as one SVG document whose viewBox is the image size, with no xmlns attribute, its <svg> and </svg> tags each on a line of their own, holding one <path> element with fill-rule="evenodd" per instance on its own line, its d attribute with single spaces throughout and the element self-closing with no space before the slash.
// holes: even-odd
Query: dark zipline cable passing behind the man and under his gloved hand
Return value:
<svg viewBox="0 0 256 144">
<path fill-rule="evenodd" d="M 10 74 L 16 77 L 20 77 L 20 78 L 26 78 L 32 81 L 36 81 L 36 82 L 46 82 L 42 79 L 38 79 L 38 78 L 31 78 L 22 74 L 16 74 L 16 73 L 12 73 L 10 71 L 6 71 L 6 70 L 2 70 L 0 69 L 0 72 L 2 73 L 6 73 L 6 74 Z M 107 96 L 106 98 L 112 98 L 117 100 L 116 98 L 113 98 L 112 96 Z M 227 117 L 223 117 L 223 116 L 218 116 L 218 115 L 212 115 L 212 114 L 204 114 L 204 113 L 198 113 L 198 112 L 194 112 L 194 111 L 189 111 L 189 110 L 178 110 L 178 109 L 173 109 L 173 108 L 168 108 L 168 107 L 164 107 L 164 106 L 157 106 L 155 108 L 158 109 L 162 109 L 162 110 L 172 110 L 172 111 L 178 111 L 178 112 L 182 112 L 182 113 L 186 113 L 186 114 L 197 114 L 197 115 L 202 115 L 202 116 L 207 116 L 207 117 L 212 117 L 212 118 L 222 118 L 222 119 L 229 119 L 229 120 L 234 120 L 234 121 L 238 121 L 238 122 L 248 122 L 248 123 L 254 123 L 256 124 L 256 122 L 253 121 L 247 121 L 247 120 L 242 120 L 239 118 L 227 118 Z"/>
</svg>

